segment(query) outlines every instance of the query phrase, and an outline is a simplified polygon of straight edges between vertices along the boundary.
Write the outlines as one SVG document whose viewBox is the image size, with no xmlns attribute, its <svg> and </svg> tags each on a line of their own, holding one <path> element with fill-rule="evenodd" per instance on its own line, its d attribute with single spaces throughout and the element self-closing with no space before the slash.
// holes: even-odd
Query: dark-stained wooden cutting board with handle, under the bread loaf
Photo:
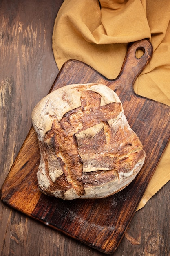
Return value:
<svg viewBox="0 0 170 256">
<path fill-rule="evenodd" d="M 137 49 L 144 55 L 136 58 Z M 140 97 L 133 91 L 137 76 L 152 56 L 148 40 L 132 43 L 117 79 L 109 80 L 85 63 L 64 63 L 51 91 L 73 83 L 102 83 L 123 103 L 131 128 L 140 138 L 146 160 L 135 180 L 119 193 L 98 200 L 64 201 L 42 194 L 37 188 L 40 152 L 33 127 L 11 167 L 1 198 L 9 206 L 99 251 L 117 249 L 170 137 L 170 106 Z M 149 84 L 148 84 L 149 86 Z M 59 103 L 60 104 L 60 103 Z"/>
</svg>

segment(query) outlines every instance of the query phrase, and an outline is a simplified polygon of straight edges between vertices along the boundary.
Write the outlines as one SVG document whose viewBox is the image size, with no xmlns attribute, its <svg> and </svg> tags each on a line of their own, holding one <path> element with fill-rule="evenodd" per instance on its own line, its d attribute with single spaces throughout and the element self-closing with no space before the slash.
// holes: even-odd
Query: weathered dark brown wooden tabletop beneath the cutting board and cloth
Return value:
<svg viewBox="0 0 170 256">
<path fill-rule="evenodd" d="M 63 0 L 0 0 L 0 187 L 29 129 L 35 104 L 58 74 L 53 24 Z M 170 256 L 170 182 L 137 211 L 114 256 Z M 2 256 L 104 255 L 0 201 Z"/>
</svg>

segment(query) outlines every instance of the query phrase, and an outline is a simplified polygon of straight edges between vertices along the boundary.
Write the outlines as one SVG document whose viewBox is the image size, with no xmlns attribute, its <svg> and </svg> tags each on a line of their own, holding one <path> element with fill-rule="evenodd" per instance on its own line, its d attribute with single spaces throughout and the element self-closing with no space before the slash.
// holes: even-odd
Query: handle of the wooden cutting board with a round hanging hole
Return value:
<svg viewBox="0 0 170 256">
<path fill-rule="evenodd" d="M 143 52 L 143 55 L 137 58 L 137 51 L 139 49 Z M 150 61 L 152 54 L 153 47 L 148 39 L 130 43 L 119 76 L 115 79 L 114 86 L 124 84 L 124 89 L 132 90 L 135 80 Z M 129 85 L 132 85 L 132 87 Z"/>
</svg>

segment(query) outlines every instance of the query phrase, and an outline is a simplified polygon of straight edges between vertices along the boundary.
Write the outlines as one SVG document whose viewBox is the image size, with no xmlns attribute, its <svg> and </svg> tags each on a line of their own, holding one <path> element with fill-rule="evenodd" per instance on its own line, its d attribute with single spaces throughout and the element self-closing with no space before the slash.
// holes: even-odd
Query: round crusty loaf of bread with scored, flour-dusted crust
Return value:
<svg viewBox="0 0 170 256">
<path fill-rule="evenodd" d="M 40 147 L 38 187 L 64 200 L 124 189 L 144 164 L 142 144 L 117 94 L 106 85 L 61 87 L 32 112 Z"/>
</svg>

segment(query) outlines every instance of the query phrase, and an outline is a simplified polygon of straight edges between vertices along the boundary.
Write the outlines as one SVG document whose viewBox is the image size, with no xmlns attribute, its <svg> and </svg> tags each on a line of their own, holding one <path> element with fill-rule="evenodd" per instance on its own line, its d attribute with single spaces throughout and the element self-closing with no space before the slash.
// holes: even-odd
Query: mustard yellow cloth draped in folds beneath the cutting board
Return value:
<svg viewBox="0 0 170 256">
<path fill-rule="evenodd" d="M 114 79 L 127 43 L 144 38 L 154 52 L 134 90 L 170 105 L 170 0 L 65 0 L 55 19 L 53 53 L 59 70 L 77 59 Z M 137 210 L 169 180 L 170 143 Z"/>
</svg>

